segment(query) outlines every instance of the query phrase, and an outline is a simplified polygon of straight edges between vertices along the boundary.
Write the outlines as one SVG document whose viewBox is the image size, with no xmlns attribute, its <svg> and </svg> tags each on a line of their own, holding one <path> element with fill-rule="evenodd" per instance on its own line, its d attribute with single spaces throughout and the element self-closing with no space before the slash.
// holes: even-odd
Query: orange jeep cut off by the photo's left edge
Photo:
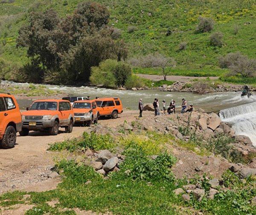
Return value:
<svg viewBox="0 0 256 215">
<path fill-rule="evenodd" d="M 16 132 L 21 131 L 20 108 L 14 96 L 0 93 L 0 145 L 12 148 L 16 142 Z"/>
</svg>

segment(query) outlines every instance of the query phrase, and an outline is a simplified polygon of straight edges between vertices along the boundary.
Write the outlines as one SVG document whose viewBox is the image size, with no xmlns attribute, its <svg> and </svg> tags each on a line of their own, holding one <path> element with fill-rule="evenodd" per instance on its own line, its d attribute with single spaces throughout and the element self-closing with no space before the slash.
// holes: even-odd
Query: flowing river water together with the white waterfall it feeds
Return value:
<svg viewBox="0 0 256 215">
<path fill-rule="evenodd" d="M 24 87 L 27 83 L 12 83 L 15 87 Z M 221 92 L 199 95 L 186 92 L 163 92 L 161 90 L 112 90 L 97 87 L 67 87 L 58 85 L 45 85 L 51 90 L 59 90 L 67 95 L 90 96 L 91 99 L 98 97 L 119 97 L 124 108 L 132 110 L 138 109 L 139 99 L 143 103 L 153 103 L 154 98 L 161 102 L 166 100 L 169 105 L 171 99 L 176 102 L 177 109 L 181 106 L 181 99 L 185 98 L 189 103 L 193 103 L 194 108 L 203 108 L 207 112 L 219 112 L 222 121 L 232 125 L 236 134 L 250 137 L 256 146 L 256 95 L 247 98 L 241 97 L 241 92 Z M 18 103 L 21 108 L 31 105 L 31 99 L 21 99 Z"/>
</svg>

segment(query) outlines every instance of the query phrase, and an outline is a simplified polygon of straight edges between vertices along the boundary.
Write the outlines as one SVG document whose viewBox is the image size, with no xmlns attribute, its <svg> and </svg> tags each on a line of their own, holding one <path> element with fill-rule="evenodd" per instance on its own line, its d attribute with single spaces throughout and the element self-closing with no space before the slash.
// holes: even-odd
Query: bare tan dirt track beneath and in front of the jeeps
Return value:
<svg viewBox="0 0 256 215">
<path fill-rule="evenodd" d="M 152 112 L 144 112 L 151 114 Z M 99 123 L 115 127 L 126 120 L 136 120 L 138 111 L 125 110 L 117 119 L 103 119 Z M 54 166 L 55 152 L 47 151 L 48 144 L 73 137 L 79 137 L 87 127 L 74 127 L 70 134 L 60 129 L 57 136 L 47 133 L 30 132 L 27 137 L 17 137 L 17 145 L 12 149 L 0 149 L 0 193 L 22 189 L 27 191 L 43 191 L 55 188 L 58 180 L 49 179 L 47 174 Z"/>
</svg>

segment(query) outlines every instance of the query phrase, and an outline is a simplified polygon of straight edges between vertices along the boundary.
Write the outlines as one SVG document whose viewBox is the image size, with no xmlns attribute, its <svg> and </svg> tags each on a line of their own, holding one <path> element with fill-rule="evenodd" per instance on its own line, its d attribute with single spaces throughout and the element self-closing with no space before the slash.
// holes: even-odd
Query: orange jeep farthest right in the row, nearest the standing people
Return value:
<svg viewBox="0 0 256 215">
<path fill-rule="evenodd" d="M 99 116 L 112 116 L 116 119 L 118 113 L 122 113 L 122 102 L 119 98 L 99 98 L 96 99 L 96 104 L 99 107 Z"/>
</svg>

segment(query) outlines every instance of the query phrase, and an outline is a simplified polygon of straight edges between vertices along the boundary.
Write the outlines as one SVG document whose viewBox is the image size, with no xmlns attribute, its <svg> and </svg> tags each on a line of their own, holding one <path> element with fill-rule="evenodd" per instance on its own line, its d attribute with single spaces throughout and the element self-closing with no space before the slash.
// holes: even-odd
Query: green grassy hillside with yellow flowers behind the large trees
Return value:
<svg viewBox="0 0 256 215">
<path fill-rule="evenodd" d="M 179 71 L 204 71 L 222 74 L 218 56 L 240 51 L 255 58 L 256 0 L 96 0 L 108 6 L 110 24 L 122 30 L 130 57 L 150 52 L 162 52 L 177 61 Z M 16 48 L 18 30 L 27 23 L 29 13 L 53 8 L 65 16 L 82 0 L 4 0 L 0 3 L 0 61 L 9 64 L 6 70 L 25 62 L 26 49 Z M 210 33 L 196 33 L 198 17 L 212 17 L 215 27 Z M 128 29 L 134 27 L 134 32 Z M 238 33 L 234 34 L 234 28 Z M 171 35 L 166 36 L 166 32 Z M 220 31 L 224 46 L 209 45 L 209 35 Z M 179 51 L 181 42 L 185 50 Z M 144 71 L 145 72 L 145 71 Z M 154 71 L 155 72 L 155 71 Z"/>
</svg>

